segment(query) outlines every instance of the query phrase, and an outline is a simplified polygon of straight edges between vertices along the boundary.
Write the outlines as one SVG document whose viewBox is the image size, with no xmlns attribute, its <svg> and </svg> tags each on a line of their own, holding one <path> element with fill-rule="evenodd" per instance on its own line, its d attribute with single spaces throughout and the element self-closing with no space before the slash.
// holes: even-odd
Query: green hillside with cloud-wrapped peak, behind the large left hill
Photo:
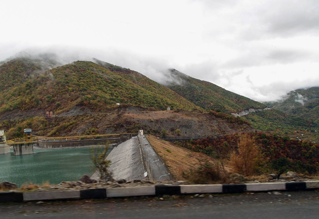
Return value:
<svg viewBox="0 0 319 219">
<path fill-rule="evenodd" d="M 250 108 L 266 107 L 260 102 L 230 92 L 208 81 L 192 78 L 175 69 L 169 69 L 169 74 L 176 82 L 170 82 L 167 87 L 205 110 L 238 113 Z"/>
</svg>

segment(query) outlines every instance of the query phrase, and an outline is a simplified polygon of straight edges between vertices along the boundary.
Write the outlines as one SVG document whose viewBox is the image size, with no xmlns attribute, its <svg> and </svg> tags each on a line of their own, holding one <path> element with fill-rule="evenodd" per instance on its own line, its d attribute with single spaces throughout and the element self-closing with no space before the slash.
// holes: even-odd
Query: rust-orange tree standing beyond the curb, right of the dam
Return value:
<svg viewBox="0 0 319 219">
<path fill-rule="evenodd" d="M 238 149 L 230 158 L 233 170 L 245 176 L 252 175 L 256 171 L 261 150 L 253 138 L 244 135 L 238 142 Z"/>
</svg>

